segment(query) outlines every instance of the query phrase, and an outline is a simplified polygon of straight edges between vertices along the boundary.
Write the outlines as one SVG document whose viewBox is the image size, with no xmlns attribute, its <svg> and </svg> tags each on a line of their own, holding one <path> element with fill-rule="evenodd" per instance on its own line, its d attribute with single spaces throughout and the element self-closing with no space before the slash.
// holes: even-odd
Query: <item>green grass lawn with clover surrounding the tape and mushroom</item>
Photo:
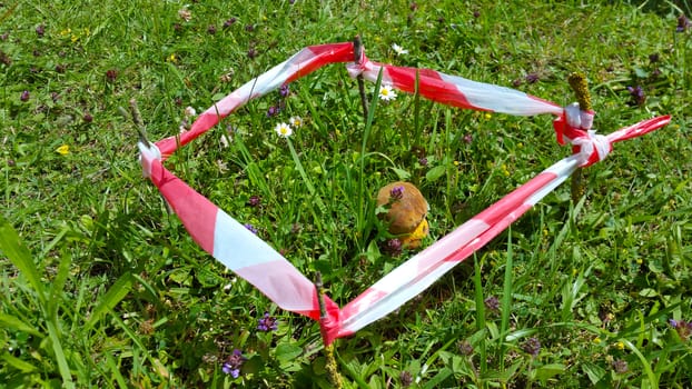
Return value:
<svg viewBox="0 0 692 389">
<path fill-rule="evenodd" d="M 673 120 L 590 167 L 581 201 L 558 188 L 468 263 L 338 340 L 345 386 L 402 387 L 411 375 L 414 388 L 690 387 L 690 333 L 669 323 L 692 320 L 692 29 L 675 32 L 681 13 L 692 3 L 3 2 L 0 388 L 328 388 L 318 326 L 191 241 L 141 178 L 118 107 L 136 99 L 158 140 L 186 107 L 200 112 L 303 47 L 358 33 L 373 60 L 561 104 L 581 71 L 604 133 Z M 636 86 L 643 104 L 626 89 Z M 254 100 L 167 166 L 308 277 L 320 271 L 340 305 L 412 255 L 380 249 L 379 187 L 422 189 L 429 245 L 570 152 L 547 116 L 404 93 L 373 106 L 368 124 L 343 66 L 290 88 L 277 117 L 266 112 L 278 93 Z M 306 124 L 286 142 L 273 128 L 291 116 Z M 256 330 L 265 311 L 277 331 Z M 221 371 L 234 349 L 247 357 L 237 379 Z"/>
</svg>

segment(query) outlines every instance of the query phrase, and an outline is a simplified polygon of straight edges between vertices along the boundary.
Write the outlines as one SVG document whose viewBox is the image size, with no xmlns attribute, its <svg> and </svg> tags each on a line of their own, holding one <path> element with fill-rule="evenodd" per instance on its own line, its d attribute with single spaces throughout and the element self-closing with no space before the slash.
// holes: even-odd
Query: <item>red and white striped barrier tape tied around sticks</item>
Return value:
<svg viewBox="0 0 692 389">
<path fill-rule="evenodd" d="M 354 44 L 334 43 L 303 49 L 285 62 L 247 82 L 202 112 L 189 131 L 162 139 L 156 144 L 139 143 L 146 177 L 157 186 L 178 215 L 192 239 L 228 269 L 254 285 L 280 308 L 320 321 L 326 343 L 356 332 L 378 320 L 428 288 L 458 262 L 482 248 L 520 218 L 533 205 L 564 182 L 579 167 L 595 163 L 607 156 L 612 143 L 639 137 L 670 122 L 659 117 L 621 129 L 609 136 L 591 130 L 593 112 L 579 107 L 560 106 L 510 88 L 471 81 L 429 69 L 399 68 L 369 61 L 363 52 L 354 59 Z M 326 298 L 328 316 L 320 319 L 315 286 L 286 258 L 247 230 L 204 196 L 162 166 L 162 160 L 250 99 L 261 97 L 316 69 L 335 62 L 352 62 L 347 71 L 375 81 L 418 92 L 442 103 L 508 114 L 552 113 L 560 144 L 573 144 L 573 154 L 564 158 L 515 189 L 457 229 L 421 251 L 366 289 L 343 309 Z"/>
</svg>

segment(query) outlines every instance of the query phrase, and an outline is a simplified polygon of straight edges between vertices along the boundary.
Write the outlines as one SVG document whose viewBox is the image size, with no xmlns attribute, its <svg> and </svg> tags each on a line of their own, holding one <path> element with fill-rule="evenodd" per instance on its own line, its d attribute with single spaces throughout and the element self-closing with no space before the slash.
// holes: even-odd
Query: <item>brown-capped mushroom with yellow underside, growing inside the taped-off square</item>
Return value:
<svg viewBox="0 0 692 389">
<path fill-rule="evenodd" d="M 401 199 L 391 198 L 392 189 L 396 187 L 404 189 Z M 411 182 L 404 181 L 396 181 L 379 189 L 377 192 L 377 207 L 386 205 L 389 206 L 389 210 L 384 215 L 384 218 L 389 222 L 389 232 L 394 235 L 414 232 L 425 219 L 425 215 L 429 209 L 418 188 Z M 423 237 L 426 235 L 427 228 L 425 228 Z"/>
</svg>

